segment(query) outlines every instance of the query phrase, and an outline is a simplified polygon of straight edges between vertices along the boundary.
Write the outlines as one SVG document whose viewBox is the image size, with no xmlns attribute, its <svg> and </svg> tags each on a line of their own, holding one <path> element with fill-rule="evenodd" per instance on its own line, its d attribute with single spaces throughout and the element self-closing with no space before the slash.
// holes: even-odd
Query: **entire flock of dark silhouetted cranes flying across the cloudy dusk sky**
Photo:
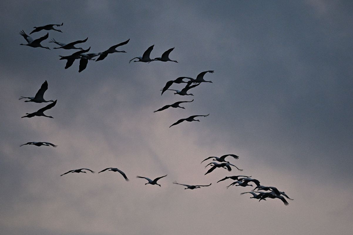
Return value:
<svg viewBox="0 0 353 235">
<path fill-rule="evenodd" d="M 63 25 L 63 23 L 61 23 L 61 24 L 48 24 L 48 25 L 44 25 L 44 26 L 34 27 L 34 30 L 30 34 L 32 34 L 34 32 L 39 32 L 41 30 L 55 30 L 55 31 L 61 32 L 61 30 L 55 29 L 54 26 L 58 26 L 59 27 L 59 26 L 62 26 L 62 25 Z M 42 48 L 46 48 L 46 49 L 50 50 L 49 47 L 43 47 L 41 45 L 41 42 L 46 40 L 49 37 L 49 33 L 47 33 L 43 37 L 37 38 L 35 40 L 33 38 L 31 38 L 30 36 L 28 36 L 23 30 L 20 32 L 20 35 L 22 35 L 25 38 L 25 40 L 28 42 L 27 44 L 20 44 L 20 45 L 25 45 L 25 46 L 30 46 L 30 47 L 42 47 Z M 130 41 L 130 39 L 128 39 L 125 42 L 121 42 L 119 44 L 116 44 L 116 45 L 110 47 L 108 50 L 106 50 L 104 52 L 101 52 L 101 53 L 86 54 L 86 52 L 88 52 L 90 50 L 90 47 L 88 49 L 84 50 L 82 47 L 75 47 L 75 45 L 79 44 L 79 43 L 84 43 L 87 40 L 88 40 L 88 38 L 86 38 L 85 40 L 78 40 L 78 41 L 75 41 L 75 42 L 71 42 L 71 43 L 65 44 L 65 43 L 57 42 L 53 38 L 49 42 L 52 42 L 52 43 L 55 43 L 55 44 L 59 45 L 59 47 L 54 47 L 53 49 L 60 49 L 60 48 L 62 48 L 62 49 L 78 49 L 79 50 L 78 52 L 75 52 L 75 53 L 73 53 L 71 55 L 60 56 L 60 60 L 67 60 L 65 69 L 70 67 L 75 60 L 80 60 L 79 72 L 82 72 L 86 68 L 86 66 L 88 64 L 88 61 L 89 60 L 95 60 L 93 58 L 96 57 L 96 56 L 99 56 L 96 61 L 100 61 L 100 60 L 105 59 L 108 56 L 108 54 L 112 54 L 112 53 L 115 53 L 115 52 L 126 53 L 124 50 L 123 51 L 118 51 L 118 50 L 116 50 L 116 48 L 120 47 L 120 46 L 123 46 L 123 45 L 127 44 Z M 170 48 L 169 50 L 164 52 L 161 57 L 157 57 L 155 59 L 150 59 L 150 54 L 151 54 L 151 51 L 152 51 L 153 47 L 154 47 L 154 45 L 150 46 L 143 53 L 142 56 L 137 56 L 137 57 L 131 59 L 129 61 L 129 63 L 131 61 L 133 61 L 134 59 L 136 59 L 136 60 L 134 60 L 133 62 L 147 62 L 147 63 L 150 63 L 152 61 L 162 61 L 162 62 L 172 61 L 172 62 L 178 63 L 176 60 L 170 60 L 169 59 L 169 54 L 170 54 L 170 52 L 172 52 L 174 50 L 174 47 Z M 214 72 L 213 70 L 208 70 L 208 71 L 201 72 L 201 73 L 199 73 L 197 75 L 197 77 L 195 79 L 191 78 L 191 77 L 179 77 L 179 78 L 176 78 L 174 80 L 170 80 L 170 81 L 168 81 L 166 83 L 164 88 L 161 89 L 161 91 L 162 91 L 161 95 L 163 95 L 163 93 L 165 91 L 170 90 L 170 91 L 175 91 L 174 95 L 181 95 L 181 96 L 191 95 L 191 96 L 193 96 L 193 94 L 191 94 L 191 93 L 188 94 L 188 91 L 190 89 L 192 89 L 192 88 L 195 88 L 196 86 L 199 86 L 201 83 L 205 83 L 205 82 L 212 83 L 211 81 L 204 80 L 203 77 L 204 77 L 204 75 L 206 73 L 213 73 L 213 72 Z M 173 85 L 173 83 L 176 83 L 176 84 L 186 83 L 186 86 L 185 86 L 185 88 L 183 88 L 181 90 L 169 89 L 170 86 Z M 51 102 L 50 104 L 48 104 L 44 108 L 38 109 L 36 112 L 26 113 L 26 115 L 22 116 L 22 118 L 25 118 L 25 117 L 26 118 L 32 118 L 34 116 L 44 116 L 44 117 L 48 117 L 48 118 L 53 118 L 52 116 L 47 116 L 47 115 L 44 114 L 44 111 L 53 108 L 55 106 L 55 104 L 56 104 L 56 101 L 57 101 L 57 100 L 55 100 L 55 101 L 53 101 L 53 100 L 49 100 L 49 101 L 44 100 L 44 97 L 43 97 L 44 96 L 44 92 L 47 89 L 48 89 L 48 82 L 45 81 L 34 97 L 21 96 L 19 98 L 19 100 L 24 99 L 24 98 L 28 99 L 28 100 L 25 100 L 25 102 L 35 102 L 35 103 Z M 166 106 L 163 106 L 162 108 L 157 109 L 154 112 L 160 112 L 160 111 L 168 109 L 170 107 L 185 109 L 184 107 L 181 107 L 180 104 L 189 103 L 189 102 L 193 102 L 193 101 L 194 100 L 175 102 L 173 104 L 168 104 Z M 183 119 L 180 119 L 177 122 L 173 123 L 169 127 L 178 125 L 179 123 L 181 123 L 183 121 L 188 121 L 188 122 L 199 121 L 199 120 L 197 120 L 195 118 L 197 118 L 197 117 L 207 117 L 208 115 L 209 114 L 207 114 L 207 115 L 193 115 L 193 116 L 190 116 L 189 118 L 183 118 Z M 54 145 L 54 144 L 49 143 L 49 142 L 28 142 L 28 143 L 22 144 L 20 146 L 23 146 L 23 145 L 35 145 L 35 146 L 45 145 L 45 146 L 53 146 L 53 147 L 57 147 L 58 146 L 58 145 Z M 237 168 L 239 171 L 243 171 L 242 169 L 239 169 L 234 164 L 226 161 L 226 157 L 233 157 L 234 159 L 239 159 L 239 156 L 234 155 L 234 154 L 226 154 L 226 155 L 223 155 L 221 157 L 215 157 L 215 156 L 207 157 L 202 162 L 207 161 L 209 159 L 211 159 L 211 161 L 213 161 L 213 162 L 210 162 L 209 164 L 207 164 L 205 166 L 205 168 L 208 167 L 208 166 L 211 166 L 211 168 L 209 168 L 209 170 L 205 173 L 205 175 L 211 173 L 212 171 L 214 171 L 217 168 L 224 168 L 224 169 L 227 169 L 228 171 L 232 171 L 231 166 Z M 219 162 L 219 163 L 217 163 L 216 161 Z M 84 171 L 84 170 L 90 171 L 91 173 L 95 173 L 95 171 L 92 171 L 90 169 L 81 168 L 81 169 L 76 169 L 76 170 L 69 170 L 66 173 L 62 174 L 62 175 L 65 175 L 65 174 L 68 174 L 68 173 L 86 173 L 86 171 Z M 113 172 L 119 172 L 124 177 L 124 179 L 126 181 L 129 181 L 129 179 L 127 178 L 126 174 L 123 171 L 119 170 L 118 168 L 109 167 L 109 168 L 106 168 L 104 170 L 99 171 L 98 173 L 101 173 L 101 172 L 107 171 L 107 170 L 108 171 L 113 171 Z M 62 175 L 60 175 L 60 176 L 62 176 Z M 157 183 L 157 181 L 160 180 L 163 177 L 166 177 L 166 176 L 167 175 L 164 175 L 164 176 L 161 176 L 161 177 L 157 177 L 154 180 L 151 180 L 151 179 L 149 179 L 147 177 L 143 177 L 143 176 L 136 176 L 136 177 L 137 178 L 146 179 L 148 182 L 145 183 L 145 185 L 151 184 L 151 185 L 161 186 L 160 184 Z M 285 205 L 288 205 L 288 202 L 287 202 L 286 198 L 289 199 L 289 200 L 293 200 L 293 199 L 289 198 L 288 195 L 285 192 L 279 191 L 279 189 L 277 189 L 276 187 L 263 186 L 263 185 L 260 184 L 260 182 L 257 179 L 252 179 L 251 177 L 252 176 L 246 176 L 246 175 L 226 176 L 225 178 L 217 181 L 217 183 L 220 182 L 220 181 L 227 180 L 227 179 L 234 180 L 234 182 L 232 182 L 230 185 L 228 185 L 226 187 L 226 188 L 229 188 L 230 186 L 241 186 L 241 187 L 251 186 L 251 187 L 253 187 L 253 185 L 249 184 L 250 182 L 253 182 L 256 185 L 256 187 L 254 189 L 252 189 L 249 192 L 243 192 L 243 193 L 240 193 L 240 194 L 242 195 L 242 194 L 250 193 L 250 194 L 252 194 L 252 197 L 250 197 L 250 198 L 259 199 L 259 201 L 266 200 L 267 198 L 280 199 L 280 200 L 283 201 L 283 203 Z M 174 184 L 178 184 L 178 185 L 183 185 L 183 186 L 186 187 L 185 189 L 195 189 L 195 188 L 201 188 L 201 187 L 208 187 L 208 186 L 211 185 L 211 183 L 209 185 L 186 185 L 186 184 L 178 183 L 177 181 L 174 181 L 173 183 Z M 264 192 L 264 191 L 266 191 L 266 192 Z"/>
</svg>

